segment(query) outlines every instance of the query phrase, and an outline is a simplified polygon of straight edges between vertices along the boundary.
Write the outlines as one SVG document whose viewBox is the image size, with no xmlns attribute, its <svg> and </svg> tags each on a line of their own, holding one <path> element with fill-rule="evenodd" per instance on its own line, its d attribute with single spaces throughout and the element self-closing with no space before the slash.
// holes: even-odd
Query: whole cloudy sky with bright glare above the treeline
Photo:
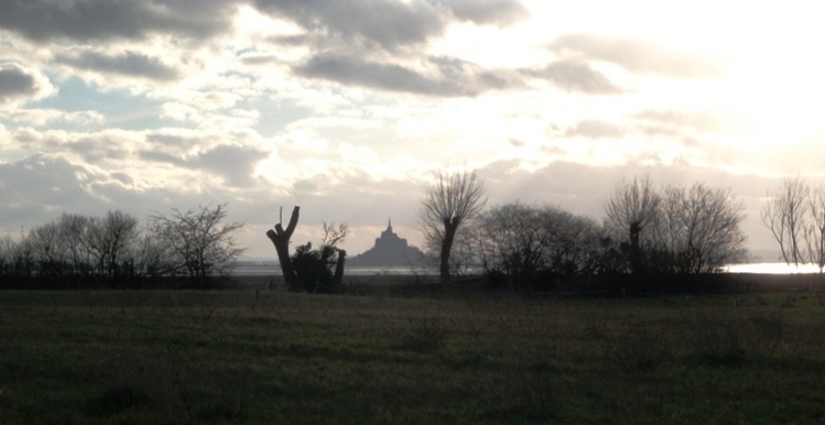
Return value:
<svg viewBox="0 0 825 425">
<path fill-rule="evenodd" d="M 0 233 L 63 212 L 227 205 L 250 259 L 389 219 L 420 244 L 439 171 L 488 205 L 595 219 L 622 179 L 704 183 L 759 214 L 818 184 L 818 2 L 0 0 Z"/>
</svg>

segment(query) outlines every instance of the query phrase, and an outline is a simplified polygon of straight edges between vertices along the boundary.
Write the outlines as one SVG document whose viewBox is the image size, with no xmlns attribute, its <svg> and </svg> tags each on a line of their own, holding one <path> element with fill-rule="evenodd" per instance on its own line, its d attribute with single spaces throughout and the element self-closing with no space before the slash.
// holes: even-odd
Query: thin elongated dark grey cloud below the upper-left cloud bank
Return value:
<svg viewBox="0 0 825 425">
<path fill-rule="evenodd" d="M 177 69 L 164 64 L 160 58 L 131 51 L 118 55 L 107 55 L 97 52 L 59 54 L 57 55 L 57 59 L 80 69 L 141 77 L 158 81 L 173 80 L 180 75 Z"/>
</svg>

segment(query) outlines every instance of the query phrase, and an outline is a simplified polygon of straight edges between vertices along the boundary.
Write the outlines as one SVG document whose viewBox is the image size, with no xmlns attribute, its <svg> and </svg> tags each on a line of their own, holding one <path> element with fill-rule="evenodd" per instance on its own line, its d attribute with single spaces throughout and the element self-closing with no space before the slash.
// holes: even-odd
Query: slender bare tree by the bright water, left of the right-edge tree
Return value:
<svg viewBox="0 0 825 425">
<path fill-rule="evenodd" d="M 810 192 L 803 178 L 788 178 L 777 193 L 768 194 L 768 204 L 762 209 L 762 224 L 773 233 L 788 264 L 805 262 L 802 238 L 811 208 Z"/>
</svg>

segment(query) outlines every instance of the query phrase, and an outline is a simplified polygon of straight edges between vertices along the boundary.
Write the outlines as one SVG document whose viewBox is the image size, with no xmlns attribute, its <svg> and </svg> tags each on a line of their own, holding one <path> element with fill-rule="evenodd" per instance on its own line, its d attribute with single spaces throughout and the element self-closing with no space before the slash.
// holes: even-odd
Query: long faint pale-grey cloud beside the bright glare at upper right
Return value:
<svg viewBox="0 0 825 425">
<path fill-rule="evenodd" d="M 708 57 L 639 39 L 566 34 L 555 39 L 550 48 L 562 56 L 610 62 L 640 74 L 687 78 L 714 75 L 718 72 Z"/>
</svg>

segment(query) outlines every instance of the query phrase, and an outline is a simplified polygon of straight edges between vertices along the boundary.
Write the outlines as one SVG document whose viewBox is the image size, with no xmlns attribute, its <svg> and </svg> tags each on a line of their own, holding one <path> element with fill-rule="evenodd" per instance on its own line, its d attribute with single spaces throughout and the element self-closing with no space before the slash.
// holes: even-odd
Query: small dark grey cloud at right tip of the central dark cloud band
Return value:
<svg viewBox="0 0 825 425">
<path fill-rule="evenodd" d="M 544 68 L 523 69 L 522 74 L 546 79 L 567 91 L 580 91 L 588 95 L 622 92 L 622 89 L 610 83 L 604 74 L 580 61 L 558 61 Z"/>
</svg>

